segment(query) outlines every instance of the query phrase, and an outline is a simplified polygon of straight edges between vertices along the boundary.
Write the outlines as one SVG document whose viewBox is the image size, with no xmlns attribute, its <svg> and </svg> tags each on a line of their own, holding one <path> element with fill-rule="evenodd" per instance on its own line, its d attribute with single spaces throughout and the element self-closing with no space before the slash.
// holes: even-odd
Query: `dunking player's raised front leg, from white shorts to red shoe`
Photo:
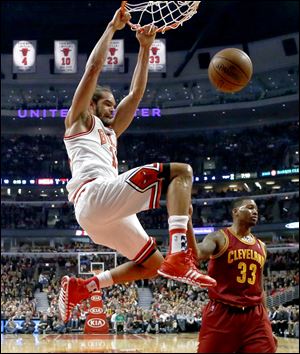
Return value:
<svg viewBox="0 0 300 354">
<path fill-rule="evenodd" d="M 154 163 L 127 171 L 115 180 L 97 179 L 81 194 L 75 208 L 76 218 L 89 232 L 95 229 L 98 221 L 97 227 L 102 228 L 123 217 L 158 208 L 161 194 L 165 193 L 170 250 L 159 274 L 192 285 L 215 286 L 214 279 L 200 273 L 191 250 L 187 249 L 192 182 L 192 168 L 183 163 Z M 96 230 L 89 234 L 98 233 Z"/>
</svg>

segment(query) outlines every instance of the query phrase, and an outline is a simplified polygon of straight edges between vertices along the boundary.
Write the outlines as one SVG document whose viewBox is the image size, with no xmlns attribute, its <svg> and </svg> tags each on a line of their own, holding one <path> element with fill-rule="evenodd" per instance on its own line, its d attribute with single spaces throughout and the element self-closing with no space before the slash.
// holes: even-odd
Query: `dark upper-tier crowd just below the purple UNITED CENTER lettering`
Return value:
<svg viewBox="0 0 300 354">
<path fill-rule="evenodd" d="M 287 122 L 239 130 L 201 131 L 188 136 L 126 133 L 119 139 L 119 169 L 122 172 L 167 161 L 190 163 L 195 175 L 205 171 L 222 175 L 299 167 L 299 158 L 291 150 L 298 144 L 298 128 L 298 122 Z M 2 176 L 69 178 L 62 139 L 63 136 L 2 136 Z"/>
</svg>

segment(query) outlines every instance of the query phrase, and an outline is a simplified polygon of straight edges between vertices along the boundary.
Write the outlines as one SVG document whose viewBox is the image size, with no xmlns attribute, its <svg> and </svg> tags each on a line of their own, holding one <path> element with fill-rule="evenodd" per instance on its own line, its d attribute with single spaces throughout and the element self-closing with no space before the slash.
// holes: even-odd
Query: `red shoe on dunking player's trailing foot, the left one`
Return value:
<svg viewBox="0 0 300 354">
<path fill-rule="evenodd" d="M 84 280 L 65 275 L 61 279 L 61 289 L 58 297 L 58 309 L 62 320 L 68 322 L 72 309 L 96 290 L 99 290 L 99 280 L 96 277 Z"/>
</svg>

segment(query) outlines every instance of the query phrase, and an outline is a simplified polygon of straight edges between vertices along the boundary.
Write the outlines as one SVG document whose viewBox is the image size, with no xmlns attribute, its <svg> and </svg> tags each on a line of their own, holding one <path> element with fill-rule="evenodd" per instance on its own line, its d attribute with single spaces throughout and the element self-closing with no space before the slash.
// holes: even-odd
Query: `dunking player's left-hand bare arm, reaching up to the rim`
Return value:
<svg viewBox="0 0 300 354">
<path fill-rule="evenodd" d="M 129 19 L 130 14 L 128 12 L 122 14 L 120 9 L 117 10 L 91 52 L 83 77 L 75 91 L 71 108 L 65 119 L 66 128 L 70 128 L 80 117 L 84 118 L 87 115 L 98 77 L 106 60 L 109 44 L 115 32 L 124 28 Z"/>
</svg>

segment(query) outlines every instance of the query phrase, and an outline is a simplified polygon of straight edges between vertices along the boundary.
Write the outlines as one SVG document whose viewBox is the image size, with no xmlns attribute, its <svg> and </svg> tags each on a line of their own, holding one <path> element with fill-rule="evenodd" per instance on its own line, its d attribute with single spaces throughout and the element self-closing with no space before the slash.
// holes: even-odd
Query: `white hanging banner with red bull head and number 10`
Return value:
<svg viewBox="0 0 300 354">
<path fill-rule="evenodd" d="M 77 47 L 76 40 L 54 41 L 55 74 L 77 73 Z"/>
</svg>

